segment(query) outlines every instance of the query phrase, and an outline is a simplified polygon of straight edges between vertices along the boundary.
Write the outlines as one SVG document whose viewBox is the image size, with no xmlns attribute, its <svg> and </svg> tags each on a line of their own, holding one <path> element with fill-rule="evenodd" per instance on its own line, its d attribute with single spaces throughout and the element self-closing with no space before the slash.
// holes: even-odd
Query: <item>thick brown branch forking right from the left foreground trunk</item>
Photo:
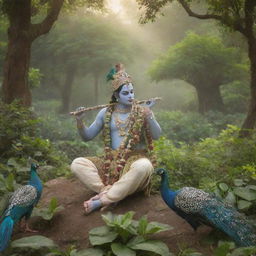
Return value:
<svg viewBox="0 0 256 256">
<path fill-rule="evenodd" d="M 31 24 L 30 36 L 32 41 L 50 31 L 52 25 L 58 18 L 63 2 L 64 0 L 51 0 L 45 19 L 41 23 Z"/>
</svg>

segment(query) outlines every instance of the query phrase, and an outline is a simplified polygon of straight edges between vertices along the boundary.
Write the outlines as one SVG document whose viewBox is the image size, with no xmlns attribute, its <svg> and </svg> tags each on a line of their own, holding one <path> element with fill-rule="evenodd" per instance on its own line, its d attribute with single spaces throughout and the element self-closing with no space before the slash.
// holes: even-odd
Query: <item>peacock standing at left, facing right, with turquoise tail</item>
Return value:
<svg viewBox="0 0 256 256">
<path fill-rule="evenodd" d="M 43 190 L 42 182 L 37 174 L 38 167 L 37 164 L 31 164 L 28 184 L 18 188 L 13 193 L 1 217 L 0 252 L 4 251 L 8 246 L 14 224 L 23 217 L 26 220 L 26 230 L 31 231 L 28 228 L 27 220 L 31 216 L 34 206 L 38 203 Z"/>
</svg>

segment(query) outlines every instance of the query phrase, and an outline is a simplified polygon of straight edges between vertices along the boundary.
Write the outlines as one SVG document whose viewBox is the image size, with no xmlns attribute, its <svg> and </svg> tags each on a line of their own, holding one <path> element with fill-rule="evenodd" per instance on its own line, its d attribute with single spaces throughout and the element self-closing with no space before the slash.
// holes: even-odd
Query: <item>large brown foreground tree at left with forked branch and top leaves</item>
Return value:
<svg viewBox="0 0 256 256">
<path fill-rule="evenodd" d="M 4 63 L 3 101 L 11 103 L 19 99 L 25 106 L 31 105 L 31 93 L 28 86 L 28 70 L 32 42 L 50 31 L 57 20 L 63 4 L 74 8 L 76 5 L 101 7 L 102 0 L 1 0 L 0 10 L 6 14 L 9 22 L 8 48 Z M 33 23 L 32 18 L 47 14 L 41 22 Z"/>
</svg>

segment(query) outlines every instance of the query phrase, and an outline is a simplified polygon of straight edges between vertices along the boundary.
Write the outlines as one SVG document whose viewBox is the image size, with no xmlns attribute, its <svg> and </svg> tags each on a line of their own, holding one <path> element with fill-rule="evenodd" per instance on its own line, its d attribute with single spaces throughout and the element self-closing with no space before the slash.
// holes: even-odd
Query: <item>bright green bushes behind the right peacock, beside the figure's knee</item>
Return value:
<svg viewBox="0 0 256 256">
<path fill-rule="evenodd" d="M 249 179 L 254 185 L 253 171 L 245 172 L 245 166 L 256 161 L 256 145 L 253 139 L 238 138 L 239 129 L 229 126 L 216 138 L 206 138 L 191 146 L 179 148 L 165 138 L 155 142 L 159 166 L 171 170 L 173 187 L 201 187 L 213 191 L 216 184 L 233 184 L 234 179 Z M 251 170 L 252 168 L 248 168 Z"/>
</svg>

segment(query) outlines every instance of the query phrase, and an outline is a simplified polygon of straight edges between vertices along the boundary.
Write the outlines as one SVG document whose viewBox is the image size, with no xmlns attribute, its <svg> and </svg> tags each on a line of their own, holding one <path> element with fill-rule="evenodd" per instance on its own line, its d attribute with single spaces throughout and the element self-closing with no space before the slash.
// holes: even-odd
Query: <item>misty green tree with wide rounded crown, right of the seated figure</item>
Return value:
<svg viewBox="0 0 256 256">
<path fill-rule="evenodd" d="M 245 77 L 247 70 L 237 49 L 226 48 L 217 37 L 190 33 L 155 60 L 149 73 L 156 81 L 182 79 L 194 86 L 199 112 L 205 113 L 224 110 L 220 86 Z"/>
</svg>

